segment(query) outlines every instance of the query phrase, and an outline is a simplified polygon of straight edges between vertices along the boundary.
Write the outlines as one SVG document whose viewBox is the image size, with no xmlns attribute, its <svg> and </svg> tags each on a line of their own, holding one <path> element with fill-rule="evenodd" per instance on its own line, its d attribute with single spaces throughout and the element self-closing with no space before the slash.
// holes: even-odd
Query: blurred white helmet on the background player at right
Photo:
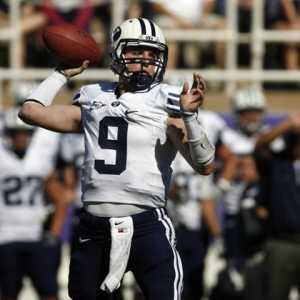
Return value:
<svg viewBox="0 0 300 300">
<path fill-rule="evenodd" d="M 236 91 L 231 103 L 233 119 L 238 128 L 247 135 L 257 132 L 265 121 L 267 101 L 264 94 L 254 88 L 243 88 Z M 256 121 L 245 122 L 241 114 L 254 110 L 259 113 Z"/>
</svg>

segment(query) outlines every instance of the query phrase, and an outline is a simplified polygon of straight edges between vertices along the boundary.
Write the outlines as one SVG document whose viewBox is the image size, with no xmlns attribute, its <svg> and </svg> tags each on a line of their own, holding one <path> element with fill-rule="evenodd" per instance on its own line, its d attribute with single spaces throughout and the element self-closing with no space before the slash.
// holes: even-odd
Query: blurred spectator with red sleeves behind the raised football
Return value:
<svg viewBox="0 0 300 300">
<path fill-rule="evenodd" d="M 0 9 L 2 9 L 4 14 L 7 14 L 9 3 L 4 4 Z M 42 41 L 42 32 L 45 26 L 70 23 L 90 31 L 91 21 L 95 15 L 96 8 L 98 9 L 93 0 L 42 0 L 37 1 L 36 4 L 32 1 L 22 1 L 19 23 L 21 67 L 31 65 L 36 67 L 53 66 L 55 62 L 52 61 L 52 57 L 47 53 Z M 99 11 L 101 10 L 98 9 L 97 12 Z M 97 29 L 99 28 L 97 27 Z M 106 33 L 101 36 L 106 39 Z M 105 49 L 104 47 L 102 48 Z"/>
</svg>

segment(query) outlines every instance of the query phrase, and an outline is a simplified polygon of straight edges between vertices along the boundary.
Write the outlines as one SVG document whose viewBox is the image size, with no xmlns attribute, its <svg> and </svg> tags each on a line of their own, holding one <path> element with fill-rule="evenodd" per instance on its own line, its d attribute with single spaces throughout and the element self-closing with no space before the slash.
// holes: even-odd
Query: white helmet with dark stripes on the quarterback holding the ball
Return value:
<svg viewBox="0 0 300 300">
<path fill-rule="evenodd" d="M 127 78 L 137 89 L 148 88 L 152 83 L 163 80 L 168 61 L 168 47 L 161 29 L 152 21 L 143 18 L 124 21 L 112 33 L 110 46 L 110 69 L 115 74 Z M 158 50 L 157 59 L 147 59 L 147 64 L 156 66 L 153 78 L 143 76 L 142 70 L 138 74 L 127 73 L 127 64 L 140 62 L 142 69 L 145 64 L 142 58 L 125 61 L 124 49 L 127 46 L 148 46 Z"/>
</svg>

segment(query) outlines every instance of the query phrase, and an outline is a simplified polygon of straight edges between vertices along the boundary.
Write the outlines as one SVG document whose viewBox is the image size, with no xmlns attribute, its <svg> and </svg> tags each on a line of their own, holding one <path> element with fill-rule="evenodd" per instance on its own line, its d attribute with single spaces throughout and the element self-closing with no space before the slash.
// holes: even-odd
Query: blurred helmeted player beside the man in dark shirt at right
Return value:
<svg viewBox="0 0 300 300">
<path fill-rule="evenodd" d="M 224 132 L 224 142 L 236 156 L 238 169 L 243 169 L 245 161 L 253 160 L 255 142 L 260 134 L 268 130 L 269 125 L 265 123 L 267 112 L 267 100 L 264 93 L 253 87 L 238 89 L 232 97 L 231 116 L 234 122 L 233 130 Z M 281 147 L 281 141 L 276 141 L 274 147 Z M 248 169 L 254 174 L 258 173 L 255 164 L 248 164 Z M 259 176 L 250 181 L 244 179 L 241 172 L 238 171 L 232 182 L 231 189 L 227 192 L 224 200 L 224 240 L 226 248 L 226 260 L 228 266 L 241 270 L 245 275 L 237 272 L 243 283 L 239 291 L 233 291 L 233 294 L 227 295 L 233 297 L 234 293 L 253 291 L 256 293 L 256 299 L 261 298 L 263 286 L 257 278 L 261 278 L 260 261 L 255 260 L 256 254 L 260 254 L 263 244 L 263 236 L 259 233 L 256 236 L 250 236 L 246 230 L 245 218 L 247 213 L 252 213 L 256 209 L 255 198 L 260 191 Z M 246 198 L 253 199 L 252 207 L 246 207 L 249 202 L 244 202 Z M 247 208 L 247 209 L 246 209 Z M 253 217 L 254 218 L 254 217 Z M 258 216 L 256 216 L 258 219 Z M 253 224 L 250 224 L 250 226 Z M 249 265 L 246 262 L 249 261 Z M 253 263 L 251 264 L 251 262 Z M 256 272 L 256 273 L 255 273 Z M 224 291 L 223 291 L 224 292 Z M 225 292 L 224 292 L 225 293 Z M 245 298 L 251 299 L 253 293 L 246 293 Z M 212 296 L 214 298 L 215 296 Z M 216 298 L 220 298 L 218 295 Z M 226 295 L 222 295 L 225 299 Z M 244 296 L 243 296 L 244 297 Z M 215 298 L 214 298 L 215 299 Z"/>
</svg>

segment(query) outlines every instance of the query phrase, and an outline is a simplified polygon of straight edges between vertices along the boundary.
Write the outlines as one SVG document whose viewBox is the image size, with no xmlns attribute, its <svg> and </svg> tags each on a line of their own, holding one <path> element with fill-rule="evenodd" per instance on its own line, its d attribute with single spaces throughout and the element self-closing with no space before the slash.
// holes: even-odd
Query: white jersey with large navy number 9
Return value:
<svg viewBox="0 0 300 300">
<path fill-rule="evenodd" d="M 117 99 L 118 85 L 87 85 L 73 100 L 85 136 L 82 201 L 165 207 L 177 152 L 166 120 L 179 112 L 182 88 L 158 84 Z"/>
</svg>

